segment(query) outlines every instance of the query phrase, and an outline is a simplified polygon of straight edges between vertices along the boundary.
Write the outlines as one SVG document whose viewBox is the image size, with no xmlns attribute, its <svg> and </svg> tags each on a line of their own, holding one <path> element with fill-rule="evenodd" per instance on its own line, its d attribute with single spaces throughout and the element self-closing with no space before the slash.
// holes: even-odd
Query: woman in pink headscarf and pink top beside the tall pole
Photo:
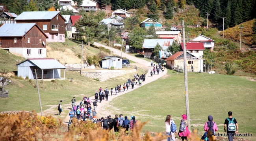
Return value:
<svg viewBox="0 0 256 141">
<path fill-rule="evenodd" d="M 179 137 L 181 137 L 181 140 L 184 141 L 187 137 L 190 136 L 190 131 L 187 128 L 188 126 L 188 121 L 187 121 L 187 115 L 183 114 L 182 119 L 180 121 L 180 131 L 178 132 Z"/>
</svg>

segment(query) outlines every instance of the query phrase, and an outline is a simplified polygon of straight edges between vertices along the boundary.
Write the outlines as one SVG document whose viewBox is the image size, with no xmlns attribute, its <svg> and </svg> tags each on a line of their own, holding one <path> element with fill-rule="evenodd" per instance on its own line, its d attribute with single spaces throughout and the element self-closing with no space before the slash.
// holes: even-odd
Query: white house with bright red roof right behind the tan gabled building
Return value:
<svg viewBox="0 0 256 141">
<path fill-rule="evenodd" d="M 182 51 L 184 49 L 183 43 L 181 43 Z M 203 43 L 186 43 L 186 51 L 197 58 L 202 58 L 204 54 L 204 44 Z"/>
</svg>

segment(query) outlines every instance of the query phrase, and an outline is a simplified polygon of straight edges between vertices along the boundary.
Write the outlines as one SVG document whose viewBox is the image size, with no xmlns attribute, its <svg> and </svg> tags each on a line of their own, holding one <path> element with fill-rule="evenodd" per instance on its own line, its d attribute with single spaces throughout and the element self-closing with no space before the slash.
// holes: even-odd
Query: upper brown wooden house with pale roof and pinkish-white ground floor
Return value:
<svg viewBox="0 0 256 141">
<path fill-rule="evenodd" d="M 49 37 L 46 42 L 65 42 L 65 18 L 60 11 L 33 11 L 22 12 L 17 23 L 35 23 Z"/>
</svg>

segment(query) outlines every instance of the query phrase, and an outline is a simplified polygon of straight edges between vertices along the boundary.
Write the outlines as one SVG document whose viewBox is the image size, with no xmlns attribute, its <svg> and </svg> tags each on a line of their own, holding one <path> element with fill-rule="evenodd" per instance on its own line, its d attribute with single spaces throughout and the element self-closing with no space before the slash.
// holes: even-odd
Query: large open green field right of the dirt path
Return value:
<svg viewBox="0 0 256 141">
<path fill-rule="evenodd" d="M 239 133 L 253 134 L 253 140 L 256 140 L 256 82 L 248 79 L 243 76 L 188 73 L 192 128 L 198 128 L 199 133 L 203 134 L 204 123 L 212 115 L 219 128 L 218 133 L 224 133 L 224 120 L 227 112 L 232 111 L 239 125 Z M 141 121 L 149 120 L 143 132 L 165 131 L 164 121 L 168 114 L 178 128 L 181 115 L 186 114 L 184 74 L 168 70 L 167 76 L 113 99 L 104 108 L 111 111 L 112 115 L 122 113 L 128 117 L 133 115 Z"/>
</svg>

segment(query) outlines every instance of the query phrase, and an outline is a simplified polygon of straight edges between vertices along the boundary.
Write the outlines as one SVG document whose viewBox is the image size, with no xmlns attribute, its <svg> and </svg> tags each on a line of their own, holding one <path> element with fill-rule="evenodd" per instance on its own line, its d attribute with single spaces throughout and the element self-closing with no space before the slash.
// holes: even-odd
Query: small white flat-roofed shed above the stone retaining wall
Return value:
<svg viewBox="0 0 256 141">
<path fill-rule="evenodd" d="M 102 58 L 102 68 L 108 69 L 109 67 L 122 69 L 122 58 L 118 56 L 106 56 Z"/>
</svg>

